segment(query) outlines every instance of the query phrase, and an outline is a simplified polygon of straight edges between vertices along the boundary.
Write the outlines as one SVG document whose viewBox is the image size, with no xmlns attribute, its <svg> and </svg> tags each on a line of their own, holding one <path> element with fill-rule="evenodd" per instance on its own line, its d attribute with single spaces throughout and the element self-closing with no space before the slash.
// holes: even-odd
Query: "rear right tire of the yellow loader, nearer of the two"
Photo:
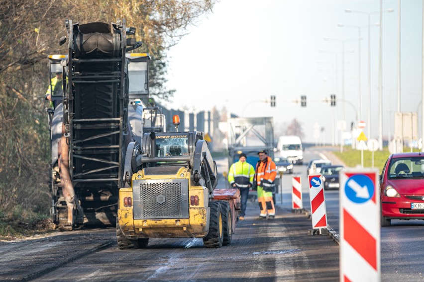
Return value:
<svg viewBox="0 0 424 282">
<path fill-rule="evenodd" d="M 209 202 L 210 220 L 209 220 L 209 232 L 206 237 L 203 238 L 203 244 L 207 248 L 219 248 L 222 246 L 224 226 L 222 221 L 221 205 L 219 202 Z"/>
</svg>

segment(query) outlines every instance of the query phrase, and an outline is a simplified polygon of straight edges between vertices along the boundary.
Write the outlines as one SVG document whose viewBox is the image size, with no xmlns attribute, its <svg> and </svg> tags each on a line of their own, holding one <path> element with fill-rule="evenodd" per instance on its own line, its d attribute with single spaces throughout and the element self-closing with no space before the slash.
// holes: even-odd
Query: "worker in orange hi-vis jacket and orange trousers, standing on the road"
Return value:
<svg viewBox="0 0 424 282">
<path fill-rule="evenodd" d="M 275 207 L 272 193 L 275 192 L 274 180 L 277 176 L 277 167 L 266 150 L 258 152 L 259 161 L 256 164 L 255 183 L 258 189 L 258 203 L 261 209 L 259 219 L 274 219 Z"/>
</svg>

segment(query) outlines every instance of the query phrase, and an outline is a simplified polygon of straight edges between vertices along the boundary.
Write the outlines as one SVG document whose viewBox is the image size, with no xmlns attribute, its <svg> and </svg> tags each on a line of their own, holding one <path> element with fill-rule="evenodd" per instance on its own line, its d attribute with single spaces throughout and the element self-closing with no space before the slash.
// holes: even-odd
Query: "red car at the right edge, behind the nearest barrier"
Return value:
<svg viewBox="0 0 424 282">
<path fill-rule="evenodd" d="M 424 153 L 391 154 L 380 176 L 381 226 L 424 219 Z"/>
</svg>

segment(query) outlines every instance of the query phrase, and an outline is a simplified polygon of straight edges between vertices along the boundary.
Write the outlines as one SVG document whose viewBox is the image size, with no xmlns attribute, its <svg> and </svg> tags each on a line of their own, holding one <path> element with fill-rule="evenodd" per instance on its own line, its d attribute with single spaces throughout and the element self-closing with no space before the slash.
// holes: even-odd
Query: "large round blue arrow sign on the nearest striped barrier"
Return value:
<svg viewBox="0 0 424 282">
<path fill-rule="evenodd" d="M 349 177 L 344 185 L 346 197 L 353 203 L 362 204 L 371 199 L 375 187 L 373 181 L 363 174 Z"/>
</svg>

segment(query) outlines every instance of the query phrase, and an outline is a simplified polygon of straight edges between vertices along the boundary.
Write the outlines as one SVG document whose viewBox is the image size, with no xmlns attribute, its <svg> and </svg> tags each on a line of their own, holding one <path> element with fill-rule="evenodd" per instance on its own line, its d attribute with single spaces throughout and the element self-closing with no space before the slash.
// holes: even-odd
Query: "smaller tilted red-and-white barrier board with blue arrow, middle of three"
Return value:
<svg viewBox="0 0 424 282">
<path fill-rule="evenodd" d="M 322 174 L 310 174 L 309 178 L 309 199 L 311 201 L 312 228 L 327 228 L 327 211 L 325 209 L 324 185 Z"/>
</svg>

